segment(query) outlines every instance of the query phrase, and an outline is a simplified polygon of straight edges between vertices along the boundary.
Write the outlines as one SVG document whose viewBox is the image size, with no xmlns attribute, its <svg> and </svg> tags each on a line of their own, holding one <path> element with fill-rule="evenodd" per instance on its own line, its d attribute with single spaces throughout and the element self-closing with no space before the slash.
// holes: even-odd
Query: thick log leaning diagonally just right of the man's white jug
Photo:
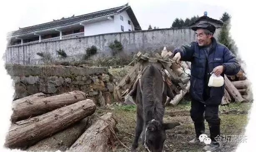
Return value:
<svg viewBox="0 0 256 152">
<path fill-rule="evenodd" d="M 229 95 L 235 100 L 235 102 L 245 101 L 241 96 L 240 92 L 238 92 L 238 90 L 236 89 L 236 87 L 231 83 L 230 80 L 228 80 L 228 77 L 226 75 L 224 77 L 225 88 L 228 91 Z"/>
</svg>

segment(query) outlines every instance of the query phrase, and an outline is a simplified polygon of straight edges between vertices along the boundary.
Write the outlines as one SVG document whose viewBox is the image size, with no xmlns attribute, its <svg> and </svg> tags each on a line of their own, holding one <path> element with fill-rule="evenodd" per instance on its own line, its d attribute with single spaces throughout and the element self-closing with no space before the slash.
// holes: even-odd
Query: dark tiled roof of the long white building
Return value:
<svg viewBox="0 0 256 152">
<path fill-rule="evenodd" d="M 124 10 L 127 11 L 129 17 L 131 18 L 131 21 L 134 24 L 135 30 L 141 30 L 141 27 L 131 9 L 131 6 L 126 4 L 126 5 L 122 5 L 120 7 L 114 7 L 114 8 L 110 8 L 107 10 L 101 10 L 98 12 L 92 12 L 92 13 L 85 14 L 85 15 L 79 15 L 79 16 L 74 16 L 74 17 L 72 16 L 72 17 L 68 17 L 68 18 L 62 18 L 60 20 L 54 20 L 52 22 L 47 22 L 47 23 L 43 23 L 43 24 L 39 24 L 39 25 L 33 25 L 30 27 L 20 28 L 19 30 L 8 33 L 8 36 L 22 35 L 22 34 L 27 34 L 30 32 L 47 30 L 47 29 L 51 29 L 54 27 L 70 25 L 70 24 L 73 24 L 76 22 L 82 22 L 82 21 L 90 20 L 90 19 L 97 18 L 97 17 L 114 15 L 114 14 L 123 12 Z"/>
</svg>

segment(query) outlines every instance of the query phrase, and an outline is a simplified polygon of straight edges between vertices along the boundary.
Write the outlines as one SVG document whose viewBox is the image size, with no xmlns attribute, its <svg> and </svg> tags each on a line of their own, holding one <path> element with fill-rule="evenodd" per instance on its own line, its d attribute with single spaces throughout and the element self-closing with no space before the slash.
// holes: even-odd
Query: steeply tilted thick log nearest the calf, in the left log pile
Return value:
<svg viewBox="0 0 256 152">
<path fill-rule="evenodd" d="M 67 152 L 109 152 L 115 140 L 113 132 L 116 123 L 110 112 L 101 116 Z"/>
</svg>

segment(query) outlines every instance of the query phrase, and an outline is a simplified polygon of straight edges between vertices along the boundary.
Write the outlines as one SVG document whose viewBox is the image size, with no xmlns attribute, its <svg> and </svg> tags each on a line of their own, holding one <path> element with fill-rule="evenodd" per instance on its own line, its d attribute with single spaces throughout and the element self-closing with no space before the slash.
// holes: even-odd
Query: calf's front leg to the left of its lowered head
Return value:
<svg viewBox="0 0 256 152">
<path fill-rule="evenodd" d="M 136 152 L 136 148 L 138 147 L 138 140 L 141 135 L 143 129 L 143 118 L 141 115 L 137 113 L 137 118 L 136 118 L 136 132 L 135 132 L 135 138 L 133 140 L 133 145 L 132 145 L 132 152 Z"/>
</svg>

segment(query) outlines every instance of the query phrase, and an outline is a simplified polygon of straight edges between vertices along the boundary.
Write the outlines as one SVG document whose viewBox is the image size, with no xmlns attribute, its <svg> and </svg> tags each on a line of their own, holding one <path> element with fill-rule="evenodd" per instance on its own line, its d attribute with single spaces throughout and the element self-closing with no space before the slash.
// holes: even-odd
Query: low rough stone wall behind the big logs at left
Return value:
<svg viewBox="0 0 256 152">
<path fill-rule="evenodd" d="M 111 104 L 113 78 L 106 67 L 6 65 L 15 87 L 14 99 L 38 92 L 47 96 L 80 90 L 98 105 Z"/>
</svg>

